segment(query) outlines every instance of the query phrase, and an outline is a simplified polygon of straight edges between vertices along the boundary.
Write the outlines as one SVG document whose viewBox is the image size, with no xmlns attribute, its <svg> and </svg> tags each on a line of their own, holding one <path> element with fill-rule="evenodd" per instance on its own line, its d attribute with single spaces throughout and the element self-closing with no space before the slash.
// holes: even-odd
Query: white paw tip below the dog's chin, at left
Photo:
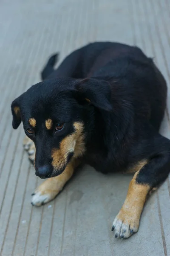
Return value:
<svg viewBox="0 0 170 256">
<path fill-rule="evenodd" d="M 48 203 L 53 198 L 54 197 L 52 197 L 50 194 L 41 194 L 41 192 L 35 192 L 32 194 L 31 204 L 35 206 L 41 206 Z"/>
</svg>

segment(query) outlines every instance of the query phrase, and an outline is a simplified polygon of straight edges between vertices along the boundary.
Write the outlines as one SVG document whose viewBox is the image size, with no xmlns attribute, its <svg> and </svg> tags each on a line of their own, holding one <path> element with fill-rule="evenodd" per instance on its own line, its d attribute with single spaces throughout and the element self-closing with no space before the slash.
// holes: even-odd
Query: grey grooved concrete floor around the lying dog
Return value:
<svg viewBox="0 0 170 256">
<path fill-rule="evenodd" d="M 111 226 L 129 175 L 87 166 L 55 201 L 30 204 L 41 180 L 23 151 L 23 128 L 12 129 L 10 104 L 40 81 L 52 53 L 61 60 L 89 41 L 107 40 L 141 47 L 170 86 L 169 0 L 0 2 L 0 256 L 170 256 L 170 179 L 147 201 L 139 232 L 123 241 Z M 161 133 L 170 138 L 168 108 L 170 100 Z"/>
</svg>

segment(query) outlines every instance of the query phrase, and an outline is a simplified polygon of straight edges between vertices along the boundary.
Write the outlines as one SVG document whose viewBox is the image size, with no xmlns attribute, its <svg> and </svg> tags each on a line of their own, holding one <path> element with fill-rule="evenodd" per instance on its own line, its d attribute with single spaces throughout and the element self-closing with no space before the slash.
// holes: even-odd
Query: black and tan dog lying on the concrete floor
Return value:
<svg viewBox="0 0 170 256">
<path fill-rule="evenodd" d="M 11 104 L 13 128 L 22 121 L 29 138 L 24 145 L 35 174 L 47 178 L 31 204 L 54 199 L 81 163 L 134 173 L 112 225 L 116 238 L 128 238 L 139 229 L 147 195 L 170 172 L 170 140 L 159 134 L 166 81 L 152 58 L 125 44 L 90 43 L 54 70 L 57 57 L 49 58 L 43 81 Z"/>
</svg>

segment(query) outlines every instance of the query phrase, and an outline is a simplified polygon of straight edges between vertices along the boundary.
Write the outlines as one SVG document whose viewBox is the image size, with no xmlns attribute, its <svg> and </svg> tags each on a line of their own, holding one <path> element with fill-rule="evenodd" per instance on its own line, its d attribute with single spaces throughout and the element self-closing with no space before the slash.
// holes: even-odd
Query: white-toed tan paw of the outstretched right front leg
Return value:
<svg viewBox="0 0 170 256">
<path fill-rule="evenodd" d="M 133 212 L 121 209 L 113 221 L 112 231 L 116 238 L 128 238 L 139 229 L 139 218 Z"/>
</svg>

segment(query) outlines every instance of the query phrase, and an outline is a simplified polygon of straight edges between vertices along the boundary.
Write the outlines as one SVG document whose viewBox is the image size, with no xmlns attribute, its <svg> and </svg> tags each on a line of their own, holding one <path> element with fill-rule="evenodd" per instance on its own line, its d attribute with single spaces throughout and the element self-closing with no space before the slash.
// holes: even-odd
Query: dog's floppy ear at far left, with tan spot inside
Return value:
<svg viewBox="0 0 170 256">
<path fill-rule="evenodd" d="M 21 113 L 19 107 L 19 98 L 15 99 L 11 104 L 11 111 L 12 111 L 12 127 L 17 129 L 21 123 Z"/>
</svg>

